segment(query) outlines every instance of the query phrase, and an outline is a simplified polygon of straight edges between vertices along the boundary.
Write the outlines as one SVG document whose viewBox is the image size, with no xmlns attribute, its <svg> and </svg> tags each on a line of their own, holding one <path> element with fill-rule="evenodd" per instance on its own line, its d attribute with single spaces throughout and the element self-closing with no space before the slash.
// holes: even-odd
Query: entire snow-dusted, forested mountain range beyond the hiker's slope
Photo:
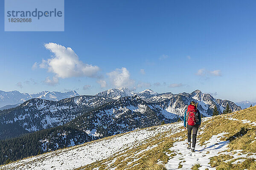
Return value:
<svg viewBox="0 0 256 170">
<path fill-rule="evenodd" d="M 78 96 L 75 91 L 67 96 L 72 97 L 61 100 L 57 97 L 54 101 L 29 97 L 15 108 L 0 111 L 0 150 L 3 151 L 0 164 L 135 129 L 177 122 L 183 119 L 190 101 L 198 102 L 203 117 L 212 116 L 215 106 L 220 113 L 227 104 L 232 111 L 241 110 L 234 102 L 215 99 L 199 90 L 190 94 L 158 94 L 150 89 L 134 92 L 122 87 L 95 96 Z M 20 99 L 15 94 L 13 98 L 12 104 Z"/>
</svg>

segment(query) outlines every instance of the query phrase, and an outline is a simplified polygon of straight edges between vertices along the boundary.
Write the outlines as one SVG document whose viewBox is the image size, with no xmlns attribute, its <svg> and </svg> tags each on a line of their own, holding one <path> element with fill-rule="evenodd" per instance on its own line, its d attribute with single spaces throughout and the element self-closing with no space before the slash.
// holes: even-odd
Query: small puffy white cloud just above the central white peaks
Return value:
<svg viewBox="0 0 256 170">
<path fill-rule="evenodd" d="M 115 71 L 112 71 L 110 73 L 107 73 L 107 75 L 109 76 L 109 79 L 111 81 L 111 83 L 116 87 L 133 87 L 134 85 L 134 80 L 130 79 L 130 73 L 126 68 L 116 68 Z"/>
</svg>

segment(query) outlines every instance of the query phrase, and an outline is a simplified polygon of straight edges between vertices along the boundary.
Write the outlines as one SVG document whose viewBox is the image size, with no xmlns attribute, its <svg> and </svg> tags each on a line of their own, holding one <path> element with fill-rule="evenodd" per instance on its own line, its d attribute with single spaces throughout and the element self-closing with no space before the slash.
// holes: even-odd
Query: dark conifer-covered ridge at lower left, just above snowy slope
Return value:
<svg viewBox="0 0 256 170">
<path fill-rule="evenodd" d="M 87 135 L 75 126 L 58 126 L 0 141 L 0 164 L 35 156 L 52 150 L 82 144 L 98 137 Z M 71 143 L 72 142 L 72 143 Z"/>
</svg>

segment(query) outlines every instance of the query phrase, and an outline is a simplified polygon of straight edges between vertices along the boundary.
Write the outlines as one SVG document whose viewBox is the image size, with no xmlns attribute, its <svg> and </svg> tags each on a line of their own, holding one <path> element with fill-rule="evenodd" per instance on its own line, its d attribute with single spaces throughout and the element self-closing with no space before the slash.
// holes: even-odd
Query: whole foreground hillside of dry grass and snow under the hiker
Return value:
<svg viewBox="0 0 256 170">
<path fill-rule="evenodd" d="M 1 170 L 199 170 L 256 168 L 256 107 L 203 118 L 196 152 L 183 122 L 134 130 L 0 166 Z M 201 166 L 201 167 L 200 167 Z"/>
</svg>

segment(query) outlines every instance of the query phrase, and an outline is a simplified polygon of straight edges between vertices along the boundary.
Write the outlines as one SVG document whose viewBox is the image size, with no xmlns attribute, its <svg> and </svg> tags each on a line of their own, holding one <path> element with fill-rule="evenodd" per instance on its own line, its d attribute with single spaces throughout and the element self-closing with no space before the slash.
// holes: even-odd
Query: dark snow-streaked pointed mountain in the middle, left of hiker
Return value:
<svg viewBox="0 0 256 170">
<path fill-rule="evenodd" d="M 127 96 L 108 103 L 95 111 L 90 111 L 67 125 L 76 125 L 88 134 L 95 136 L 111 136 L 136 128 L 176 122 L 180 119 L 174 113 L 168 113 L 162 108 L 149 105 L 139 96 Z"/>
</svg>

